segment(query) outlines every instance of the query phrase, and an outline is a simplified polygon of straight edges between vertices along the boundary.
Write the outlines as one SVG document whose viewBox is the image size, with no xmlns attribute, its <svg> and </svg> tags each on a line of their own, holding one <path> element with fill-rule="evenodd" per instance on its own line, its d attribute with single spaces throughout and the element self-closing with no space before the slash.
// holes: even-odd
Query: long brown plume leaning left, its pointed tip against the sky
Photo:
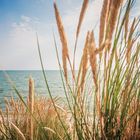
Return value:
<svg viewBox="0 0 140 140">
<path fill-rule="evenodd" d="M 64 76 L 67 81 L 68 80 L 67 59 L 70 63 L 69 53 L 68 53 L 68 44 L 67 44 L 66 34 L 65 34 L 64 27 L 62 24 L 61 16 L 59 14 L 56 2 L 54 2 L 54 10 L 55 10 L 55 18 L 57 22 L 58 32 L 59 32 L 60 40 L 62 43 L 62 61 L 63 61 Z M 70 66 L 71 66 L 71 63 L 70 63 Z M 72 66 L 71 66 L 71 69 L 72 69 Z"/>
</svg>

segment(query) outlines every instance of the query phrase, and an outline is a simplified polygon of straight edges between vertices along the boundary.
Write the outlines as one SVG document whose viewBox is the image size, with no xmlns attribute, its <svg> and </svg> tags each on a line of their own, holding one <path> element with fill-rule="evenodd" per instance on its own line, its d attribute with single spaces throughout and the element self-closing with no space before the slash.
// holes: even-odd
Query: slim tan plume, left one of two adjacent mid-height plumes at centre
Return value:
<svg viewBox="0 0 140 140">
<path fill-rule="evenodd" d="M 87 33 L 85 47 L 84 47 L 83 56 L 82 56 L 82 76 L 81 76 L 82 78 L 81 78 L 81 84 L 80 84 L 81 92 L 83 92 L 84 83 L 85 83 L 85 76 L 86 76 L 86 73 L 87 73 L 88 44 L 89 44 L 89 31 Z"/>
</svg>

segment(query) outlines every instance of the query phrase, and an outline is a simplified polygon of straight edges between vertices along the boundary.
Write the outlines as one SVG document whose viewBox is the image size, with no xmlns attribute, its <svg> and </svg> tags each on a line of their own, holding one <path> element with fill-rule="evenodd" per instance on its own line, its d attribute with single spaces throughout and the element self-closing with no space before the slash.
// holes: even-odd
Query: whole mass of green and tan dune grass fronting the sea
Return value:
<svg viewBox="0 0 140 140">
<path fill-rule="evenodd" d="M 129 18 L 134 0 L 128 0 L 126 3 L 123 0 L 103 1 L 99 41 L 94 38 L 94 30 L 87 31 L 77 74 L 76 48 L 88 4 L 89 1 L 84 0 L 75 34 L 73 61 L 71 61 L 66 32 L 57 4 L 54 2 L 56 23 L 62 44 L 62 65 L 56 36 L 53 34 L 54 46 L 66 104 L 62 106 L 62 100 L 57 100 L 51 94 L 37 36 L 42 72 L 50 99 L 34 100 L 34 92 L 29 90 L 29 100 L 25 103 L 14 86 L 20 100 L 15 101 L 13 98 L 6 100 L 6 110 L 1 111 L 1 138 L 140 139 L 140 17 L 135 17 L 133 21 Z M 68 74 L 68 65 L 71 76 Z M 30 80 L 31 87 L 32 83 Z"/>
</svg>

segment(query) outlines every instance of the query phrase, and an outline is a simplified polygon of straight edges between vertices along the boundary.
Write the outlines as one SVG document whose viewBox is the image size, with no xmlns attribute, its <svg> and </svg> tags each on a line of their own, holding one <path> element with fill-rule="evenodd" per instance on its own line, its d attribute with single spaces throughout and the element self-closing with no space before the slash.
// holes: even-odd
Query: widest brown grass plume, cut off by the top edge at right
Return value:
<svg viewBox="0 0 140 140">
<path fill-rule="evenodd" d="M 123 0 L 112 0 L 111 2 L 111 11 L 109 15 L 108 27 L 107 27 L 107 39 L 109 40 L 110 44 L 108 45 L 108 50 L 111 47 L 111 40 L 113 37 L 113 33 L 115 30 L 115 25 L 117 22 L 117 17 L 119 13 L 119 9 L 123 3 Z"/>
</svg>

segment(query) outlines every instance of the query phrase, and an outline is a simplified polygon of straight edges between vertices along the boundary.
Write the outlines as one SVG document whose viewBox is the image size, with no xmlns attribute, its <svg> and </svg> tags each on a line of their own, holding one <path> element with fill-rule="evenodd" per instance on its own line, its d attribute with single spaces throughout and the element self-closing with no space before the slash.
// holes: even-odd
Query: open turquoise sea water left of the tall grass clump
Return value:
<svg viewBox="0 0 140 140">
<path fill-rule="evenodd" d="M 12 81 L 15 83 L 17 89 L 24 98 L 28 95 L 28 80 L 32 76 L 35 83 L 35 94 L 49 97 L 44 82 L 42 71 L 6 71 Z M 46 71 L 47 80 L 53 96 L 63 97 L 63 86 L 59 71 Z M 4 107 L 4 98 L 17 98 L 16 93 L 12 89 L 10 83 L 5 77 L 3 71 L 0 71 L 0 107 Z"/>
</svg>

